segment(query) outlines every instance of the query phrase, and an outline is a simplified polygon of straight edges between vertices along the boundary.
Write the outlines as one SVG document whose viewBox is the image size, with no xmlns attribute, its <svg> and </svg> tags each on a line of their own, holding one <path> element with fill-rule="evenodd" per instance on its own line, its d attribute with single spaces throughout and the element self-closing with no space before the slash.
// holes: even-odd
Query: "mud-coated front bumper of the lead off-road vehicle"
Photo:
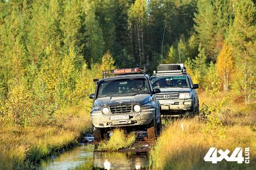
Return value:
<svg viewBox="0 0 256 170">
<path fill-rule="evenodd" d="M 111 116 L 129 115 L 129 119 L 110 120 Z M 111 128 L 116 126 L 147 125 L 155 118 L 155 108 L 146 109 L 139 113 L 109 114 L 104 115 L 101 111 L 91 112 L 91 121 L 96 128 Z"/>
</svg>

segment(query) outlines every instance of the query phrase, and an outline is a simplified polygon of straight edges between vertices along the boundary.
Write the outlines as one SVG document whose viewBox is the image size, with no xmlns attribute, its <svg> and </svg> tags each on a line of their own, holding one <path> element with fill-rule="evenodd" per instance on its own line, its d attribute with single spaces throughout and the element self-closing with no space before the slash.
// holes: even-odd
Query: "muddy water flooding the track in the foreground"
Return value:
<svg viewBox="0 0 256 170">
<path fill-rule="evenodd" d="M 93 144 L 81 144 L 57 157 L 42 161 L 40 169 L 75 169 L 93 160 L 104 169 L 143 169 L 149 162 L 147 152 L 94 152 Z"/>
</svg>

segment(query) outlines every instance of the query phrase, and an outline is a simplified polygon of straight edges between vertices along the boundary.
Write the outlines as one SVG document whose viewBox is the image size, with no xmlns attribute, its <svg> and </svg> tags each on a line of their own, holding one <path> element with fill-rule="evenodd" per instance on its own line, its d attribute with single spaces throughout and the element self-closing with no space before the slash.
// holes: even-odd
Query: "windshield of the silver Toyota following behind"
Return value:
<svg viewBox="0 0 256 170">
<path fill-rule="evenodd" d="M 189 88 L 186 76 L 155 76 L 151 83 L 153 88 Z"/>
</svg>

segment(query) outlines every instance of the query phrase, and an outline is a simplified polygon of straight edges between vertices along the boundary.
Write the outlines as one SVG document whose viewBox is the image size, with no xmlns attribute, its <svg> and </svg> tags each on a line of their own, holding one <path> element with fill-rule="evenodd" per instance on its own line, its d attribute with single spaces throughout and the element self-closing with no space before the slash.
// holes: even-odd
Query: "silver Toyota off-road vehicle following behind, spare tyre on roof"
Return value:
<svg viewBox="0 0 256 170">
<path fill-rule="evenodd" d="M 199 114 L 199 99 L 191 77 L 183 64 L 162 64 L 157 66 L 150 78 L 153 88 L 159 88 L 156 98 L 162 115 Z"/>
</svg>

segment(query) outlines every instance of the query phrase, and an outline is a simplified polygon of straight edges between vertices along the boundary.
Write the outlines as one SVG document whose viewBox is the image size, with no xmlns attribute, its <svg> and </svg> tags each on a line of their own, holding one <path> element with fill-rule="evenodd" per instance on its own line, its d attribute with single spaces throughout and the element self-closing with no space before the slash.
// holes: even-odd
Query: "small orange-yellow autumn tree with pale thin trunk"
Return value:
<svg viewBox="0 0 256 170">
<path fill-rule="evenodd" d="M 234 60 L 232 58 L 231 47 L 228 44 L 224 44 L 217 58 L 216 72 L 219 78 L 222 79 L 223 90 L 228 91 L 229 81 L 234 72 Z"/>
</svg>

